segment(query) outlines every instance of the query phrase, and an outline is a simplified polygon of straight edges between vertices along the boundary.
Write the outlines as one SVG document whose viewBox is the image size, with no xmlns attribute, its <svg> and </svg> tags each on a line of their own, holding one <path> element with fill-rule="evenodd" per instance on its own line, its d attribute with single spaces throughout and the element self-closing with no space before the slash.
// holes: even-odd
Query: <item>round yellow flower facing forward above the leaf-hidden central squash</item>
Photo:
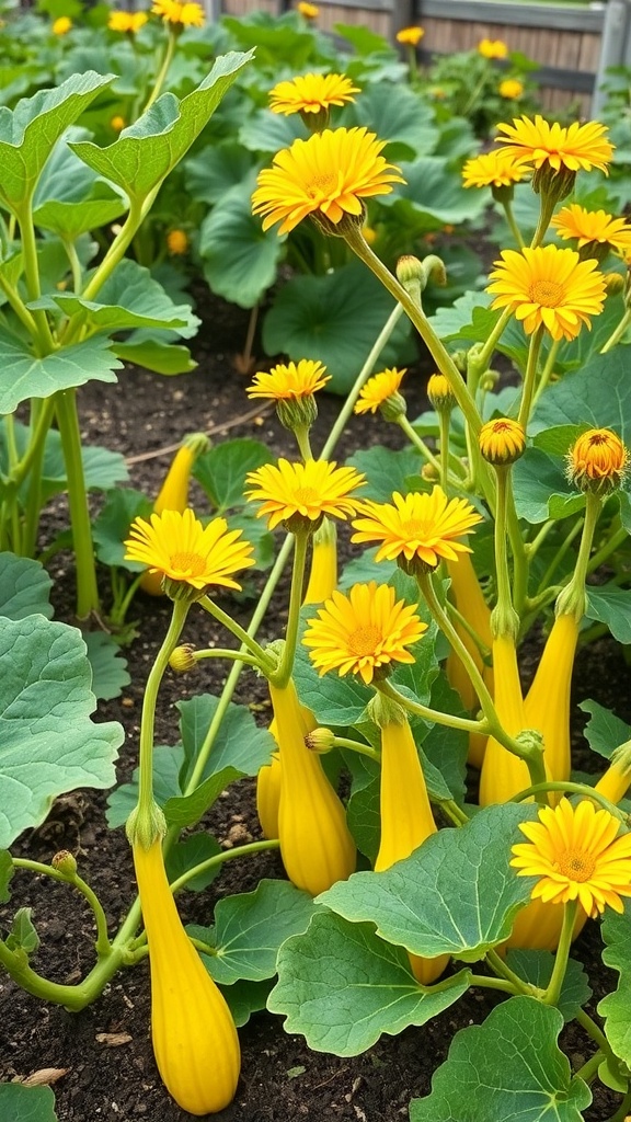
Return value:
<svg viewBox="0 0 631 1122">
<path fill-rule="evenodd" d="M 415 606 L 395 600 L 390 585 L 354 585 L 348 596 L 335 591 L 310 619 L 303 643 L 320 677 L 337 670 L 339 675 L 359 674 L 366 682 L 383 677 L 392 662 L 413 662 L 406 650 L 418 643 L 427 624 Z"/>
</svg>

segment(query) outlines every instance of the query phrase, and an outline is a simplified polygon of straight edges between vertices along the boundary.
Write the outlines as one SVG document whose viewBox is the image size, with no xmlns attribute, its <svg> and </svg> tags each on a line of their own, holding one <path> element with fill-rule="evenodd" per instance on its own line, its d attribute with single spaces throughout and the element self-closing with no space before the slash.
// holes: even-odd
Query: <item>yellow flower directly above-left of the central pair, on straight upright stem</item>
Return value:
<svg viewBox="0 0 631 1122">
<path fill-rule="evenodd" d="M 247 498 L 263 500 L 257 517 L 267 515 L 269 530 L 282 522 L 298 531 L 317 530 L 324 515 L 346 518 L 355 514 L 359 500 L 353 491 L 365 478 L 355 468 L 338 468 L 328 460 L 290 463 L 281 459 L 277 466 L 265 463 L 248 471 L 246 482 L 250 485 Z"/>
</svg>

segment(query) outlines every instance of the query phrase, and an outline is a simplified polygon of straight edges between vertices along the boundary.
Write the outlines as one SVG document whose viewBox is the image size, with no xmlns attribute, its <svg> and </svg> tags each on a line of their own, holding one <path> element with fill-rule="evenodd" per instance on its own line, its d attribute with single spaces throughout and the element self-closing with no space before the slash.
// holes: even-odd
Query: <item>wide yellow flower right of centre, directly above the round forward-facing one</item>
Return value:
<svg viewBox="0 0 631 1122">
<path fill-rule="evenodd" d="M 464 498 L 448 499 L 441 487 L 431 495 L 412 491 L 392 496 L 392 503 L 362 504 L 360 516 L 353 522 L 353 542 L 381 542 L 377 561 L 421 562 L 436 569 L 441 558 L 457 561 L 458 553 L 470 553 L 457 541 L 482 516 Z"/>
</svg>

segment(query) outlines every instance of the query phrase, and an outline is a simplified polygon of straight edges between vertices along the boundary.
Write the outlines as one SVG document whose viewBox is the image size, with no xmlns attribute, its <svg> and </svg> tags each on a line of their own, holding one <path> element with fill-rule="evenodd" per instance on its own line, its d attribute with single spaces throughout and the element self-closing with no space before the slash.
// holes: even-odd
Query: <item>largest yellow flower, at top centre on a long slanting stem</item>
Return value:
<svg viewBox="0 0 631 1122">
<path fill-rule="evenodd" d="M 390 194 L 393 183 L 403 183 L 399 168 L 381 155 L 385 142 L 365 128 L 324 129 L 283 148 L 274 166 L 259 172 L 252 196 L 263 229 L 281 222 L 278 233 L 289 233 L 317 213 L 333 226 L 345 214 L 362 219 L 363 199 Z"/>
</svg>

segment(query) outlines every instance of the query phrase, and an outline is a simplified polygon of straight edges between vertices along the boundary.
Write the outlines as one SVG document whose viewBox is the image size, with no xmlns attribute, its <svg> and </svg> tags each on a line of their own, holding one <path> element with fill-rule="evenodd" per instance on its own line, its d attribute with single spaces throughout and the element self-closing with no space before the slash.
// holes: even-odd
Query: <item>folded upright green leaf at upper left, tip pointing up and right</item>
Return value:
<svg viewBox="0 0 631 1122">
<path fill-rule="evenodd" d="M 182 101 L 164 93 L 115 144 L 99 148 L 91 141 L 72 144 L 89 167 L 126 191 L 137 204 L 180 163 L 200 135 L 252 52 L 230 52 L 217 58 L 210 74 Z"/>
</svg>

